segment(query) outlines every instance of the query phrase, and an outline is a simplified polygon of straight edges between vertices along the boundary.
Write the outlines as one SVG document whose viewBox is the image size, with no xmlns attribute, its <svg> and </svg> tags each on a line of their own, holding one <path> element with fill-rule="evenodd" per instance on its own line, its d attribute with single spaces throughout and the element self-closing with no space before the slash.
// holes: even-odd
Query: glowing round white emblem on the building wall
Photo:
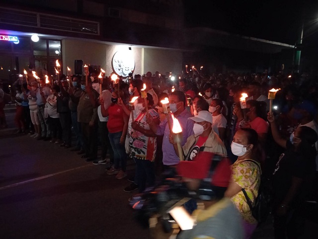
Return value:
<svg viewBox="0 0 318 239">
<path fill-rule="evenodd" d="M 135 60 L 132 51 L 117 51 L 111 60 L 111 65 L 117 75 L 128 77 L 128 74 L 135 70 Z"/>
</svg>

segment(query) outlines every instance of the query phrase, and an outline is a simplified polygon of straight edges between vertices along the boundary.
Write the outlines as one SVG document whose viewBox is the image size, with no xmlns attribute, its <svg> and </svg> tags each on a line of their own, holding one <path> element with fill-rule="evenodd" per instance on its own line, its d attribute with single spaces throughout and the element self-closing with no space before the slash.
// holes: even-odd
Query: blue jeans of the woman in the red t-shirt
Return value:
<svg viewBox="0 0 318 239">
<path fill-rule="evenodd" d="M 125 144 L 120 143 L 121 135 L 122 131 L 116 133 L 108 133 L 110 145 L 114 151 L 114 167 L 118 169 L 119 164 L 121 164 L 121 170 L 126 172 L 127 155 Z"/>
</svg>

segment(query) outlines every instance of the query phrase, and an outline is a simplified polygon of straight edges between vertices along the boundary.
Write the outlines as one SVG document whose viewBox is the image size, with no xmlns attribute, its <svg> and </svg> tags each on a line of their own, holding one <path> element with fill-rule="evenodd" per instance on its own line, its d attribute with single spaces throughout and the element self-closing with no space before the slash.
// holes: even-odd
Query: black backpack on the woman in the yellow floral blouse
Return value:
<svg viewBox="0 0 318 239">
<path fill-rule="evenodd" d="M 260 166 L 255 161 L 253 160 L 244 160 L 244 161 L 255 163 L 258 166 L 260 171 Z M 260 185 L 258 189 L 258 195 L 255 199 L 254 207 L 252 207 L 252 202 L 247 196 L 244 188 L 242 189 L 242 192 L 246 198 L 246 202 L 248 204 L 248 207 L 250 208 L 250 211 L 252 212 L 253 217 L 257 220 L 259 224 L 265 222 L 268 215 L 271 212 L 271 206 L 270 206 L 271 187 L 270 187 L 269 179 L 261 176 Z"/>
</svg>

